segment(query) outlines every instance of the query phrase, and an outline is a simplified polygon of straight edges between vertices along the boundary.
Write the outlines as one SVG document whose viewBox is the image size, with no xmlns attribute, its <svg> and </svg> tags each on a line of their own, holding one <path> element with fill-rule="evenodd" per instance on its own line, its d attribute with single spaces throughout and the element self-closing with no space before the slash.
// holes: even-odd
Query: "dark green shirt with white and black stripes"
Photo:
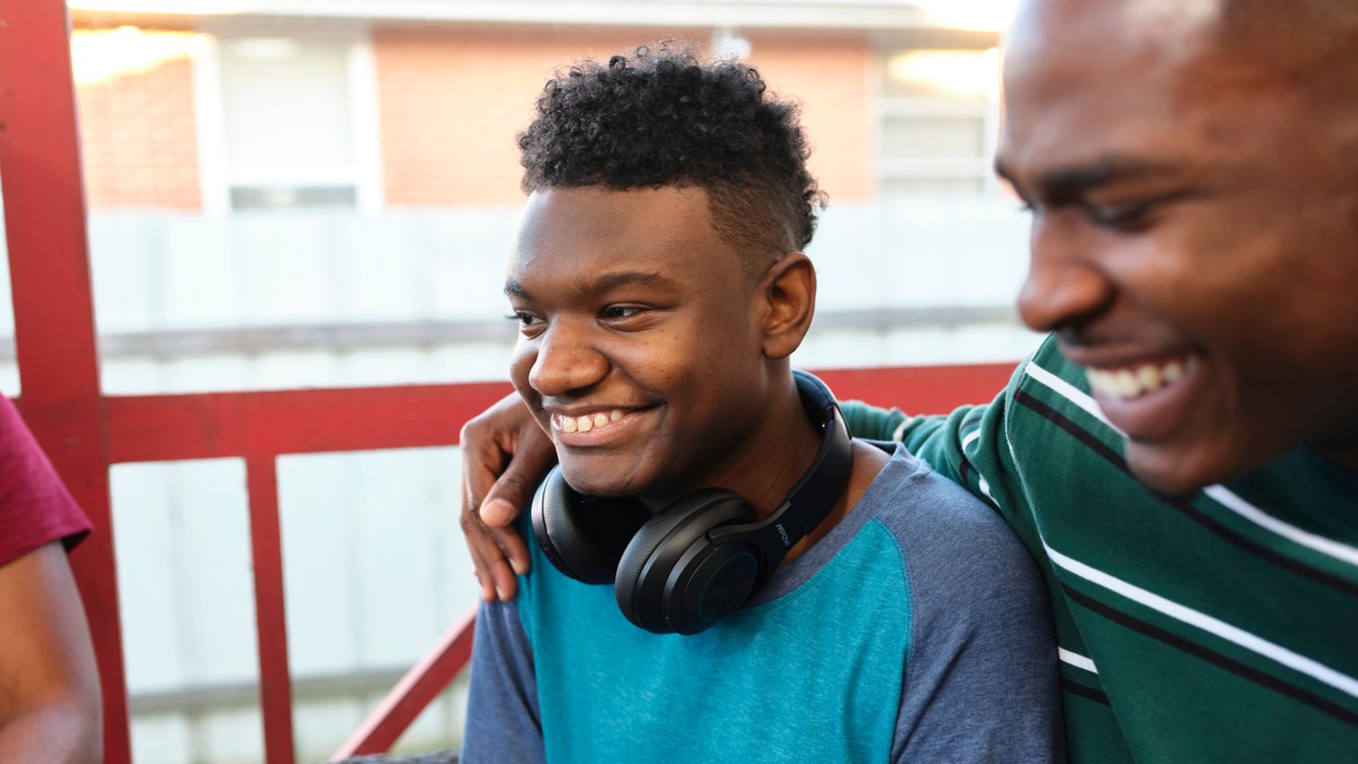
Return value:
<svg viewBox="0 0 1358 764">
<path fill-rule="evenodd" d="M 1038 558 L 1071 761 L 1358 761 L 1358 475 L 1298 449 L 1162 497 L 1088 389 L 1048 338 L 987 406 L 845 414 L 989 501 Z"/>
</svg>

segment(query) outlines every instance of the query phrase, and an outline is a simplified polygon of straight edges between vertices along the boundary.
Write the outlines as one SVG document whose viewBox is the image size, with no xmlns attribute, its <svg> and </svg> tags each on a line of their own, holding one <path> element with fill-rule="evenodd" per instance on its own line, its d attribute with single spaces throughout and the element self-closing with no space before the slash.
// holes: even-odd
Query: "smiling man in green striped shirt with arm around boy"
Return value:
<svg viewBox="0 0 1358 764">
<path fill-rule="evenodd" d="M 1051 337 L 990 404 L 846 408 L 1038 558 L 1074 761 L 1358 760 L 1355 52 L 1351 0 L 1025 3 L 998 170 Z M 463 433 L 502 597 L 526 419 Z"/>
</svg>

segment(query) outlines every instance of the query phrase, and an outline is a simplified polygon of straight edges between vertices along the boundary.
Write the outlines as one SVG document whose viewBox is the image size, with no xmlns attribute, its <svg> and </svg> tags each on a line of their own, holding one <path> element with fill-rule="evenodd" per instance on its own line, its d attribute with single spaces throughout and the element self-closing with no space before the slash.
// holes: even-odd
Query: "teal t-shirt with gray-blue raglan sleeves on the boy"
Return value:
<svg viewBox="0 0 1358 764">
<path fill-rule="evenodd" d="M 1032 559 L 900 446 L 839 525 L 694 636 L 631 626 L 611 586 L 530 547 L 517 601 L 477 622 L 467 764 L 1063 757 Z"/>
</svg>

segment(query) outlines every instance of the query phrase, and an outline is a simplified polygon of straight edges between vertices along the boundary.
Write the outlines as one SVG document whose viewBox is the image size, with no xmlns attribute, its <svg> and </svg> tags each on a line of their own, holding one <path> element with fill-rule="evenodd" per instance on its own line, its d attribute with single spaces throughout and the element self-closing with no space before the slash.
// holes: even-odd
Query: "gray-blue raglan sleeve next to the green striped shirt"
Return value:
<svg viewBox="0 0 1358 764">
<path fill-rule="evenodd" d="M 892 761 L 1065 761 L 1057 641 L 1038 569 L 1004 521 L 938 475 L 898 533 L 913 636 Z M 933 525 L 929 528 L 928 525 Z"/>
</svg>

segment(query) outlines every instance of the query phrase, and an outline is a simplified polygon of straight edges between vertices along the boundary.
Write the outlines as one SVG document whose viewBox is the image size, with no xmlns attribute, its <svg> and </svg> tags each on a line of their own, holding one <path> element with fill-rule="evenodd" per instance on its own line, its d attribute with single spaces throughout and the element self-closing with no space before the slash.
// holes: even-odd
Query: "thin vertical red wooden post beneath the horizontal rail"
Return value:
<svg viewBox="0 0 1358 764">
<path fill-rule="evenodd" d="M 276 459 L 247 459 L 246 483 L 250 494 L 250 551 L 254 560 L 265 761 L 293 764 L 292 673 L 288 670 L 288 613 L 282 600 L 282 535 Z"/>
</svg>

